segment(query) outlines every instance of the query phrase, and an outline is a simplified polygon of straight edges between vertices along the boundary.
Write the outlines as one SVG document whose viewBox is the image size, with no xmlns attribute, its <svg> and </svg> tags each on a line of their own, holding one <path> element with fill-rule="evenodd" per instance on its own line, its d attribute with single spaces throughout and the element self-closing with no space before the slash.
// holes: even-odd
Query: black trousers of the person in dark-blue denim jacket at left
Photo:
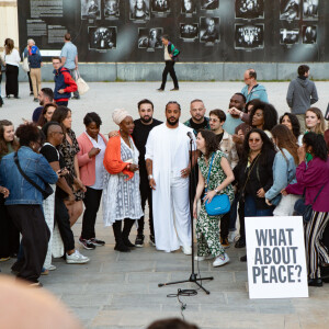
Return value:
<svg viewBox="0 0 329 329">
<path fill-rule="evenodd" d="M 37 282 L 48 250 L 50 231 L 41 205 L 9 205 L 8 212 L 22 234 L 24 259 L 15 264 L 18 277 Z"/>
</svg>

